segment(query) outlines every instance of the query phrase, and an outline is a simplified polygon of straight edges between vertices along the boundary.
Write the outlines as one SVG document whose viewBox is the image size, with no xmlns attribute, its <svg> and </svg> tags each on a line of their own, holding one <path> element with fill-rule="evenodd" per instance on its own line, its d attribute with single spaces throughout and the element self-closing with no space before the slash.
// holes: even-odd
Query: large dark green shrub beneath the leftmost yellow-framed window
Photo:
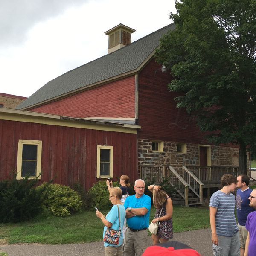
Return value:
<svg viewBox="0 0 256 256">
<path fill-rule="evenodd" d="M 0 181 L 0 222 L 20 222 L 35 217 L 41 211 L 41 195 L 35 189 L 38 178 L 26 175 L 17 180 L 12 171 L 10 179 Z"/>
</svg>

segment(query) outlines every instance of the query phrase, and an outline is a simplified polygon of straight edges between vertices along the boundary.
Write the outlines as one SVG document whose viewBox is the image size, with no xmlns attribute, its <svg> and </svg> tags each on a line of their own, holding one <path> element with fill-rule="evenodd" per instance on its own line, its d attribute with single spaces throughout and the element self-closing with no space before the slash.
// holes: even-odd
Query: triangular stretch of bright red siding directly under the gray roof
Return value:
<svg viewBox="0 0 256 256">
<path fill-rule="evenodd" d="M 33 108 L 30 111 L 73 117 L 135 116 L 135 77 L 130 76 Z"/>
</svg>

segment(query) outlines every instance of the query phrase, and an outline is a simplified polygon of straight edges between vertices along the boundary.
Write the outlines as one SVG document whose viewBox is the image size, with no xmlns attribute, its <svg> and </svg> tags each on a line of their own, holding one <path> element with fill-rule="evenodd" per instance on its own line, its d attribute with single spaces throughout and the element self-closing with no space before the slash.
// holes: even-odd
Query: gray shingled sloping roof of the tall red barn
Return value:
<svg viewBox="0 0 256 256">
<path fill-rule="evenodd" d="M 37 90 L 16 109 L 23 109 L 61 94 L 137 69 L 159 46 L 159 39 L 162 35 L 173 29 L 175 29 L 174 23 L 146 35 L 115 52 L 58 76 Z"/>
</svg>

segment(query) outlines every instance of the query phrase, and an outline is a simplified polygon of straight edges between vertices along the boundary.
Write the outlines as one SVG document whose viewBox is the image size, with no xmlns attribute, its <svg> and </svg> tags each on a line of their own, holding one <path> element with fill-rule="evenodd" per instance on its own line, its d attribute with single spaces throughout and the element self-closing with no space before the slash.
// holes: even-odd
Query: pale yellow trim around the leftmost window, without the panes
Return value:
<svg viewBox="0 0 256 256">
<path fill-rule="evenodd" d="M 36 165 L 36 177 L 38 179 L 41 178 L 40 172 L 41 172 L 41 159 L 42 159 L 42 141 L 41 140 L 19 140 L 18 142 L 18 156 L 17 156 L 17 180 L 21 180 L 23 177 L 21 177 L 21 166 L 22 166 L 22 150 L 23 150 L 23 144 L 28 145 L 37 145 L 37 165 Z M 34 176 L 29 177 L 29 179 L 35 179 Z"/>
</svg>

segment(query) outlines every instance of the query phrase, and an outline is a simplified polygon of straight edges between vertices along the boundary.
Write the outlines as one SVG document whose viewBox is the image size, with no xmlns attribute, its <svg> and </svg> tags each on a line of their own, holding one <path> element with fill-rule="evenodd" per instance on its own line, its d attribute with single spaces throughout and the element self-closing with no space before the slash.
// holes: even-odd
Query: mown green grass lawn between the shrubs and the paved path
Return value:
<svg viewBox="0 0 256 256">
<path fill-rule="evenodd" d="M 107 214 L 108 211 L 102 211 Z M 155 208 L 151 207 L 150 221 Z M 69 217 L 41 215 L 23 223 L 0 224 L 0 239 L 8 244 L 79 244 L 103 239 L 103 223 L 94 211 L 82 212 Z M 173 232 L 210 227 L 209 207 L 192 208 L 174 205 Z M 149 233 L 149 235 L 151 235 Z"/>
</svg>

